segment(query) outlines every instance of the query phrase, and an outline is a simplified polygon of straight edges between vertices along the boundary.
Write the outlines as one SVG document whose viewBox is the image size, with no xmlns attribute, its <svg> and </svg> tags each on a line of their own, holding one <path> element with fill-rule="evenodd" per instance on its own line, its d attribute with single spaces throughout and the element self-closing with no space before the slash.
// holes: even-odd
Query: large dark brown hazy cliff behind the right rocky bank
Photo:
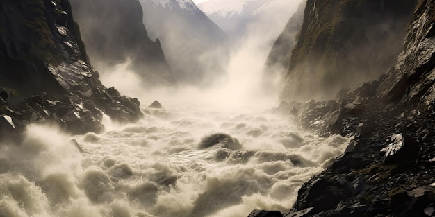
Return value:
<svg viewBox="0 0 435 217">
<path fill-rule="evenodd" d="M 307 1 L 281 98 L 334 98 L 377 78 L 400 53 L 415 3 Z"/>
</svg>

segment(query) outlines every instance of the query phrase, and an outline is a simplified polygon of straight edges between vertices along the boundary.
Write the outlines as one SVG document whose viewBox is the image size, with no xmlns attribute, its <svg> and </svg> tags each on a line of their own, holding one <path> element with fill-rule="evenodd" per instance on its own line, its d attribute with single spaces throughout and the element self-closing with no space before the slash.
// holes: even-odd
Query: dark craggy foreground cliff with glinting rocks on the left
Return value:
<svg viewBox="0 0 435 217">
<path fill-rule="evenodd" d="M 140 118 L 140 102 L 106 88 L 92 71 L 68 0 L 0 3 L 0 137 L 28 123 L 99 132 Z"/>
</svg>

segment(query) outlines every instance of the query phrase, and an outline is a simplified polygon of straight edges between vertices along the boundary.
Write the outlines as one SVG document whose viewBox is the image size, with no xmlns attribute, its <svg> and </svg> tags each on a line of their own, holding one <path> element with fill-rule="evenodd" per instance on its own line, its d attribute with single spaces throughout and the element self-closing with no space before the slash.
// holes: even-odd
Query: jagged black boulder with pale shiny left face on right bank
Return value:
<svg viewBox="0 0 435 217">
<path fill-rule="evenodd" d="M 419 155 L 420 147 L 417 141 L 407 137 L 406 141 L 402 134 L 391 136 L 391 144 L 382 148 L 381 153 L 384 155 L 384 164 L 397 164 L 416 160 Z"/>
</svg>

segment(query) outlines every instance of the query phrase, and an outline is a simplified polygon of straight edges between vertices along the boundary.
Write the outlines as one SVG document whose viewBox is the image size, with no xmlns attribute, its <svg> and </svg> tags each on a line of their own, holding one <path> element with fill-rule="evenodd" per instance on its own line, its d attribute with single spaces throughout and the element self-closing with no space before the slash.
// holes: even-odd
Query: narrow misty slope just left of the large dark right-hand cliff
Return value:
<svg viewBox="0 0 435 217">
<path fill-rule="evenodd" d="M 297 11 L 290 17 L 284 31 L 270 49 L 264 69 L 265 80 L 274 80 L 276 78 L 282 80 L 288 71 L 291 51 L 297 42 L 296 36 L 301 31 L 302 22 L 304 21 L 305 6 L 306 1 L 299 3 Z"/>
</svg>

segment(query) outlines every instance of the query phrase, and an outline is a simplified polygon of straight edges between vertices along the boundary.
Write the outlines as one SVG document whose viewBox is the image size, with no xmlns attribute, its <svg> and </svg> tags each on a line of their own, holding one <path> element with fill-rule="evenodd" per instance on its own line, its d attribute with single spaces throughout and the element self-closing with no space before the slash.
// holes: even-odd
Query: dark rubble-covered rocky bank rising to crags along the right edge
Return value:
<svg viewBox="0 0 435 217">
<path fill-rule="evenodd" d="M 434 11 L 418 1 L 397 64 L 379 79 L 333 101 L 282 104 L 308 130 L 352 137 L 284 216 L 435 216 Z"/>
</svg>

